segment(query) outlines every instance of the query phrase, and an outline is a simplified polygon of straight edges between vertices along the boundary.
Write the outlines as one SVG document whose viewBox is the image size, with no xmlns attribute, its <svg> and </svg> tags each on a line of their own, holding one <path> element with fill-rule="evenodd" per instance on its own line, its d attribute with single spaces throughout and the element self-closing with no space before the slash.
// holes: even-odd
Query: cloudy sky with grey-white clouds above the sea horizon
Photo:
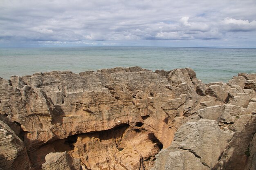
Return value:
<svg viewBox="0 0 256 170">
<path fill-rule="evenodd" d="M 0 0 L 0 47 L 256 48 L 256 0 Z"/>
</svg>

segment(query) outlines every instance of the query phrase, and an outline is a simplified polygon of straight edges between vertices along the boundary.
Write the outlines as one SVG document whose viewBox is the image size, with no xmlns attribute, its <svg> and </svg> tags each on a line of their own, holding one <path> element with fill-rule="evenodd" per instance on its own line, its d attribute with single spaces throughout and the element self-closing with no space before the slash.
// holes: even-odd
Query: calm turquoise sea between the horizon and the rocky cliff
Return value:
<svg viewBox="0 0 256 170">
<path fill-rule="evenodd" d="M 97 71 L 140 66 L 152 71 L 191 67 L 204 83 L 227 82 L 238 73 L 256 73 L 256 49 L 183 47 L 44 47 L 1 49 L 0 77 L 35 72 Z"/>
</svg>

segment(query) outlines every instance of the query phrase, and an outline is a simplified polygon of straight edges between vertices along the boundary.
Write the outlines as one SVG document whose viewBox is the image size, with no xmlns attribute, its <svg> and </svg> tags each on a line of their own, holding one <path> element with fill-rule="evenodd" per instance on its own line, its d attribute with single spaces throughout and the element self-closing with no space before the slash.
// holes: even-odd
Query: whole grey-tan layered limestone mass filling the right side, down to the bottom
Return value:
<svg viewBox="0 0 256 170">
<path fill-rule="evenodd" d="M 205 108 L 183 120 L 151 170 L 255 169 L 255 78 L 243 73 L 227 84 L 209 84 L 200 93 L 214 97 L 218 105 L 201 102 Z"/>
</svg>

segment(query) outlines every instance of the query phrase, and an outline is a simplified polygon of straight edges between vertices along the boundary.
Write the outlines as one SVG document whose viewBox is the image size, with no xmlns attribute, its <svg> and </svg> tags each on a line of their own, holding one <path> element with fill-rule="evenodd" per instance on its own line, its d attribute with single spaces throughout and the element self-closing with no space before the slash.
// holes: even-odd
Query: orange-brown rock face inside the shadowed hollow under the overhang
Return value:
<svg viewBox="0 0 256 170">
<path fill-rule="evenodd" d="M 72 155 L 92 170 L 99 167 L 106 170 L 141 167 L 144 170 L 153 166 L 158 145 L 152 133 L 124 126 L 108 132 L 79 135 Z"/>
</svg>

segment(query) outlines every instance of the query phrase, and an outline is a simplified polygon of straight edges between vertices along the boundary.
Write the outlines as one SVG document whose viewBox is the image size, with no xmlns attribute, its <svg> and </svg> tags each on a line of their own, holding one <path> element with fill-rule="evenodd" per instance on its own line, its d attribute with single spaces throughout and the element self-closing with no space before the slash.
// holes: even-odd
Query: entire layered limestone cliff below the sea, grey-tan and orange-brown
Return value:
<svg viewBox="0 0 256 170">
<path fill-rule="evenodd" d="M 0 78 L 0 169 L 254 170 L 256 74 L 191 68 Z"/>
</svg>

